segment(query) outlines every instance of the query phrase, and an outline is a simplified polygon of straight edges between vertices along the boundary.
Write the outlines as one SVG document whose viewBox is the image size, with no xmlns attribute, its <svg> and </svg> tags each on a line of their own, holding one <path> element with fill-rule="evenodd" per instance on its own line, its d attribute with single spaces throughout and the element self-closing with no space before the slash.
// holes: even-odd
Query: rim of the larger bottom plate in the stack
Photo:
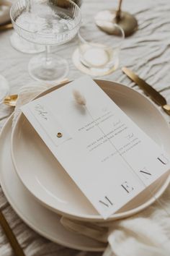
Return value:
<svg viewBox="0 0 170 256">
<path fill-rule="evenodd" d="M 14 116 L 14 113 L 11 114 L 9 116 L 9 118 L 6 120 L 4 126 L 2 127 L 1 129 L 1 132 L 0 132 L 0 141 L 2 140 L 2 136 L 5 132 L 5 130 L 7 129 L 6 127 L 8 127 L 9 125 L 9 122 L 12 121 L 12 118 Z M 10 128 L 12 130 L 12 127 Z M 12 132 L 11 132 L 12 134 Z M 9 143 L 9 146 L 10 146 L 10 143 Z M 12 163 L 13 166 L 14 166 L 14 163 Z M 16 171 L 15 171 L 15 174 L 16 174 Z M 17 174 L 16 174 L 17 175 Z M 21 210 L 19 210 L 16 205 L 14 205 L 14 202 L 13 200 L 11 199 L 11 196 L 9 195 L 9 192 L 7 192 L 7 189 L 6 189 L 6 185 L 4 184 L 4 178 L 3 178 L 3 175 L 2 175 L 2 171 L 0 170 L 0 179 L 1 179 L 1 189 L 3 190 L 4 192 L 4 195 L 6 197 L 6 200 L 9 202 L 9 204 L 11 205 L 11 207 L 13 208 L 13 210 L 17 213 L 17 215 L 19 216 L 19 218 L 22 219 L 22 221 L 24 221 L 24 223 L 27 224 L 27 226 L 30 227 L 30 229 L 34 230 L 37 234 L 40 234 L 41 236 L 45 237 L 46 239 L 49 239 L 51 242 L 55 242 L 57 244 L 60 244 L 61 246 L 63 247 L 68 247 L 68 248 L 71 248 L 71 249 L 79 249 L 79 250 L 83 250 L 83 251 L 88 251 L 88 252 L 103 252 L 104 249 L 106 249 L 106 247 L 97 247 L 97 248 L 90 248 L 90 247 L 83 247 L 83 246 L 76 246 L 76 247 L 73 247 L 73 245 L 68 242 L 63 242 L 61 241 L 60 239 L 54 239 L 53 236 L 48 236 L 47 234 L 45 234 L 44 231 L 41 231 L 40 228 L 38 228 L 37 226 L 35 226 L 35 223 L 31 223 L 31 221 L 27 218 L 27 216 L 23 216 L 23 213 Z M 21 180 L 19 179 L 19 181 L 21 182 Z M 24 184 L 22 183 L 22 185 L 24 186 Z M 40 202 L 39 202 L 40 203 Z M 42 205 L 42 204 L 41 204 Z M 42 205 L 42 207 L 44 208 L 44 205 Z M 57 213 L 56 213 L 57 215 Z M 101 243 L 102 244 L 102 243 Z"/>
</svg>

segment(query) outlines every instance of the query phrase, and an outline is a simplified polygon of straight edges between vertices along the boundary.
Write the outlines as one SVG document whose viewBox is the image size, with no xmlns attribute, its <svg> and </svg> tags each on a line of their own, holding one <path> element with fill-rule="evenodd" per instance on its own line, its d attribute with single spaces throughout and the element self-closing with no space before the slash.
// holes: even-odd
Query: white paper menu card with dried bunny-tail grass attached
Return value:
<svg viewBox="0 0 170 256">
<path fill-rule="evenodd" d="M 76 102 L 75 90 L 84 105 Z M 27 103 L 22 111 L 104 219 L 169 171 L 164 150 L 90 77 Z"/>
</svg>

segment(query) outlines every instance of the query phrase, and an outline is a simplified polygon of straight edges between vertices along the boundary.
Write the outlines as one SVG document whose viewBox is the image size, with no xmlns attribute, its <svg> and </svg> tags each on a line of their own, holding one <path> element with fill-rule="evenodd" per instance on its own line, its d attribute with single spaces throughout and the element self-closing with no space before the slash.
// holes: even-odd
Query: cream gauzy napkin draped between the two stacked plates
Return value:
<svg viewBox="0 0 170 256">
<path fill-rule="evenodd" d="M 54 84 L 32 83 L 19 91 L 13 126 L 20 107 Z M 55 83 L 56 85 L 56 83 Z M 143 212 L 120 221 L 86 223 L 61 217 L 66 229 L 107 243 L 103 256 L 169 256 L 170 255 L 170 187 Z"/>
</svg>

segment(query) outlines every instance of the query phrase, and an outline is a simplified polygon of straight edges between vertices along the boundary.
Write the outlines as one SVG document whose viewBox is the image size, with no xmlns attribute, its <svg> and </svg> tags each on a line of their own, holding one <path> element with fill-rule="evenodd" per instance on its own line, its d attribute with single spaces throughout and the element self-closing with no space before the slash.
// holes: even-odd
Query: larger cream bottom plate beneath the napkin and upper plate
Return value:
<svg viewBox="0 0 170 256">
<path fill-rule="evenodd" d="M 53 242 L 73 249 L 103 251 L 106 244 L 65 229 L 58 216 L 32 197 L 14 171 L 10 150 L 12 116 L 6 122 L 0 136 L 0 180 L 12 208 L 30 228 Z"/>
</svg>

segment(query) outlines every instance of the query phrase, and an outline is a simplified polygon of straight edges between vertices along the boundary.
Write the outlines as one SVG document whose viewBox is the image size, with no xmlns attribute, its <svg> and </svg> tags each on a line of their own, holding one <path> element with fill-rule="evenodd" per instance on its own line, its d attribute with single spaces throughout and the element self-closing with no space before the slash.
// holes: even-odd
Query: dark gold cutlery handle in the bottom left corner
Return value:
<svg viewBox="0 0 170 256">
<path fill-rule="evenodd" d="M 16 256 L 25 256 L 22 247 L 20 247 L 19 242 L 17 241 L 17 238 L 15 237 L 12 229 L 9 226 L 9 223 L 6 221 L 6 218 L 4 217 L 4 214 L 0 210 L 0 223 L 2 229 L 4 229 L 4 233 L 6 234 L 6 237 L 9 239 L 9 243 L 12 246 L 12 249 L 14 250 L 14 253 Z"/>
</svg>

